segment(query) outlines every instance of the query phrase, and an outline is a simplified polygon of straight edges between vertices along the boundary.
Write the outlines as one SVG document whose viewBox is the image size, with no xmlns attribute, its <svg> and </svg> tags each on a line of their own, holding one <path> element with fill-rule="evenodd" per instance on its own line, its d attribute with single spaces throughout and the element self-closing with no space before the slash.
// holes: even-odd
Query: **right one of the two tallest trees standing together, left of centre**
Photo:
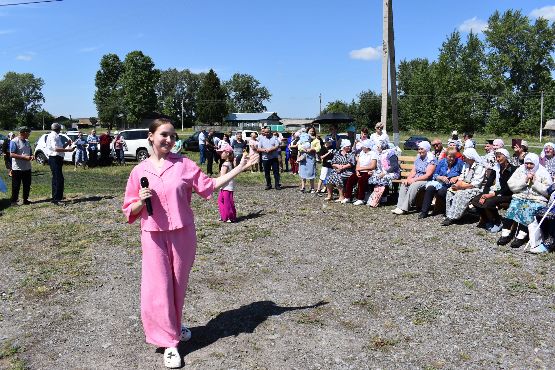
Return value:
<svg viewBox="0 0 555 370">
<path fill-rule="evenodd" d="M 158 107 L 155 85 L 160 77 L 160 70 L 154 69 L 154 63 L 148 55 L 135 50 L 125 55 L 123 73 L 118 80 L 122 87 L 122 102 L 125 120 L 138 127 L 144 111 Z"/>
</svg>

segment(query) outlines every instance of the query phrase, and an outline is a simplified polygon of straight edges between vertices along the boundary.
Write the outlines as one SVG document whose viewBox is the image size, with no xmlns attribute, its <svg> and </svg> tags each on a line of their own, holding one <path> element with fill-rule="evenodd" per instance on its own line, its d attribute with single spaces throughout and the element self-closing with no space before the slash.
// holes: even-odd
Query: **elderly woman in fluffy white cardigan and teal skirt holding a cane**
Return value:
<svg viewBox="0 0 555 370">
<path fill-rule="evenodd" d="M 518 234 L 511 243 L 512 248 L 522 246 L 528 240 L 528 225 L 534 221 L 534 216 L 547 205 L 549 199 L 548 188 L 553 184 L 551 175 L 544 166 L 539 164 L 537 154 L 528 153 L 521 165 L 507 185 L 513 192 L 511 205 L 503 221 L 501 237 L 498 245 L 506 245 L 511 241 L 511 225 L 513 221 L 518 222 Z"/>
</svg>

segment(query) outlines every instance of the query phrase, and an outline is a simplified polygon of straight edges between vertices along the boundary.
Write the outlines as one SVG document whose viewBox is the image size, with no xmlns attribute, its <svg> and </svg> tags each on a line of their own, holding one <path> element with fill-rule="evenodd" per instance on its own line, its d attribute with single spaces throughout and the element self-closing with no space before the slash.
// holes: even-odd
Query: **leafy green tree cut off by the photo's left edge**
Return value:
<svg viewBox="0 0 555 370">
<path fill-rule="evenodd" d="M 41 110 L 44 96 L 42 78 L 32 73 L 7 72 L 0 80 L 0 128 L 31 125 L 33 115 Z"/>
</svg>

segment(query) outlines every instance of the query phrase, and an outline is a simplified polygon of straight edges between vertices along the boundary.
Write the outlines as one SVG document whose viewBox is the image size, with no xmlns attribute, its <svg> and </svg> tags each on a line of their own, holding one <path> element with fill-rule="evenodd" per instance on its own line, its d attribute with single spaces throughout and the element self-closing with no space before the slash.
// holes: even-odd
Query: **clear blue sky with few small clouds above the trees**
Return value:
<svg viewBox="0 0 555 370">
<path fill-rule="evenodd" d="M 0 4 L 17 2 L 0 0 Z M 555 21 L 549 3 L 393 0 L 397 62 L 435 59 L 446 35 L 478 31 L 498 9 Z M 0 7 L 0 73 L 45 81 L 53 115 L 95 116 L 102 55 L 143 50 L 157 68 L 254 75 L 281 118 L 315 117 L 336 99 L 381 89 L 382 1 L 65 0 Z M 375 50 L 377 48 L 377 50 Z"/>
</svg>

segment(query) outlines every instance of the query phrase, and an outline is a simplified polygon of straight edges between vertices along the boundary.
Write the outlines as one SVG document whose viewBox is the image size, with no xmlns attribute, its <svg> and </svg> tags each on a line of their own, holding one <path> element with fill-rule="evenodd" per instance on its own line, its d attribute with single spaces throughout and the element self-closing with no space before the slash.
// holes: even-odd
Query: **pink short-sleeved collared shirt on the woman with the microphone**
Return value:
<svg viewBox="0 0 555 370">
<path fill-rule="evenodd" d="M 148 179 L 148 187 L 152 189 L 152 211 L 149 216 L 147 207 L 132 216 L 131 207 L 139 200 L 141 178 Z M 150 160 L 144 160 L 131 171 L 125 199 L 123 213 L 127 216 L 129 224 L 141 217 L 140 227 L 144 231 L 169 231 L 180 229 L 191 222 L 191 189 L 205 199 L 210 199 L 216 187 L 216 179 L 211 179 L 203 174 L 199 166 L 184 156 L 168 153 L 160 174 Z"/>
</svg>

